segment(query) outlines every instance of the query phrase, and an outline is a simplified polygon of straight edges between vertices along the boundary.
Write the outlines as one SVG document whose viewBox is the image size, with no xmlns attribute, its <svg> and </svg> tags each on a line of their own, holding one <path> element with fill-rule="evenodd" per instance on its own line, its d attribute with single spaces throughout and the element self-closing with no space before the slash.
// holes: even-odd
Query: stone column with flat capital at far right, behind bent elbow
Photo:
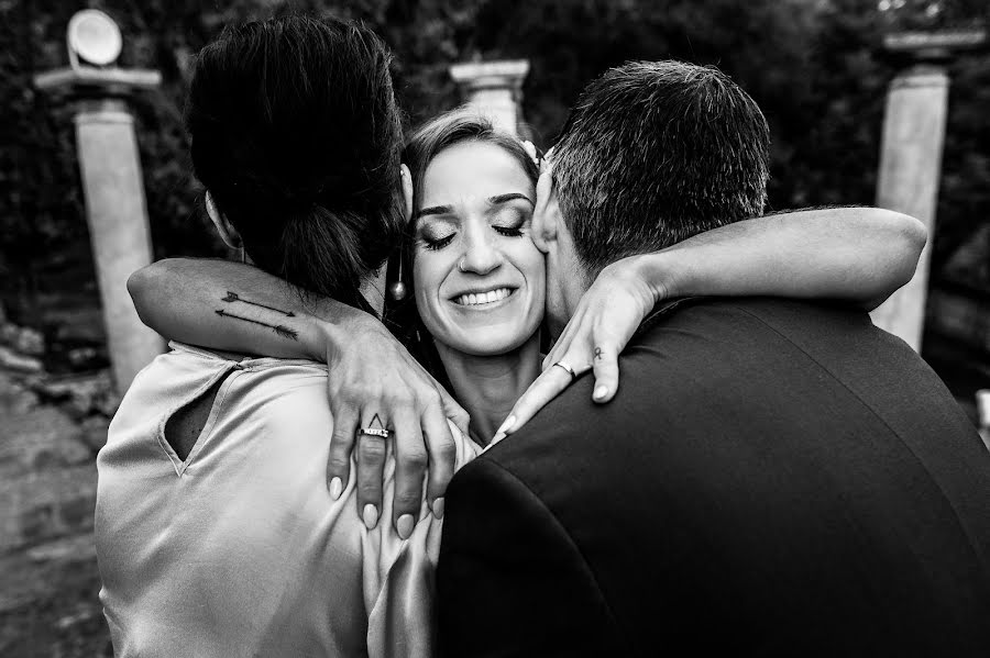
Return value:
<svg viewBox="0 0 990 658">
<path fill-rule="evenodd" d="M 928 244 L 914 278 L 875 310 L 873 323 L 921 349 L 942 149 L 948 109 L 946 64 L 955 51 L 981 45 L 981 31 L 903 33 L 887 37 L 887 51 L 908 66 L 891 81 L 883 118 L 877 205 L 921 220 Z"/>
</svg>

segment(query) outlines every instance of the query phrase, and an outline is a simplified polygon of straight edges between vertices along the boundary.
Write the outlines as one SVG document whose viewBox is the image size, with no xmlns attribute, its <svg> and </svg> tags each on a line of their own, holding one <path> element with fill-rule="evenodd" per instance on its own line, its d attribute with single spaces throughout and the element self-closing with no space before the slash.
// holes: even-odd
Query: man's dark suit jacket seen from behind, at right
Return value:
<svg viewBox="0 0 990 658">
<path fill-rule="evenodd" d="M 447 656 L 990 656 L 990 453 L 865 313 L 704 300 L 462 469 Z"/>
</svg>

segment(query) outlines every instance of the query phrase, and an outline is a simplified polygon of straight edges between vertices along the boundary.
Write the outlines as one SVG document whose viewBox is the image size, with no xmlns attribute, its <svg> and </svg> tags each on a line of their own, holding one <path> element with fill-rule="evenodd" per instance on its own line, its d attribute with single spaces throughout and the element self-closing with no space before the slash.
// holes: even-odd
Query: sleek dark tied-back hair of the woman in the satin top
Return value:
<svg viewBox="0 0 990 658">
<path fill-rule="evenodd" d="M 356 23 L 250 22 L 199 53 L 186 107 L 196 176 L 252 260 L 365 310 L 403 234 L 391 60 Z"/>
</svg>

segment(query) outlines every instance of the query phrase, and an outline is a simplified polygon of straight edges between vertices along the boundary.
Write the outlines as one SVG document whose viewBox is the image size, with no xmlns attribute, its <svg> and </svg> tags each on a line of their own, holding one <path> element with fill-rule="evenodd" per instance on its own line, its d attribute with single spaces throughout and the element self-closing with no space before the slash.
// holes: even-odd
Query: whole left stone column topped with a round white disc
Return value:
<svg viewBox="0 0 990 658">
<path fill-rule="evenodd" d="M 152 70 L 124 70 L 116 23 L 96 10 L 69 23 L 68 68 L 38 74 L 38 89 L 72 103 L 86 197 L 86 216 L 96 264 L 113 377 L 122 393 L 139 370 L 164 349 L 144 326 L 128 294 L 128 277 L 152 263 L 144 183 L 130 98 L 161 83 Z M 80 62 L 82 59 L 82 62 Z"/>
</svg>

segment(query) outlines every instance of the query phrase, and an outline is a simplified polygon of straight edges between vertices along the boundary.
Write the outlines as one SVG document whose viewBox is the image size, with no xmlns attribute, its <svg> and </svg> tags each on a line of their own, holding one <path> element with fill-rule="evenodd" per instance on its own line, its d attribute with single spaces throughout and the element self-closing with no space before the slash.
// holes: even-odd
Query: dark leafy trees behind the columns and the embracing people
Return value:
<svg viewBox="0 0 990 658">
<path fill-rule="evenodd" d="M 182 126 L 195 53 L 232 21 L 301 10 L 361 19 L 396 52 L 409 123 L 458 102 L 451 63 L 526 57 L 525 114 L 548 145 L 583 85 L 628 59 L 714 64 L 763 108 L 773 132 L 771 205 L 871 203 L 887 85 L 886 30 L 969 25 L 983 0 L 148 0 L 89 2 L 124 33 L 122 66 L 156 68 L 157 92 L 135 103 L 158 256 L 219 254 L 197 208 Z M 85 244 L 69 110 L 31 85 L 65 65 L 78 0 L 0 0 L 0 275 L 30 281 Z M 882 10 L 881 10 L 882 9 Z M 953 69 L 938 208 L 936 268 L 990 215 L 990 58 Z M 937 276 L 937 272 L 936 272 Z M 982 286 L 990 288 L 990 281 Z"/>
</svg>

